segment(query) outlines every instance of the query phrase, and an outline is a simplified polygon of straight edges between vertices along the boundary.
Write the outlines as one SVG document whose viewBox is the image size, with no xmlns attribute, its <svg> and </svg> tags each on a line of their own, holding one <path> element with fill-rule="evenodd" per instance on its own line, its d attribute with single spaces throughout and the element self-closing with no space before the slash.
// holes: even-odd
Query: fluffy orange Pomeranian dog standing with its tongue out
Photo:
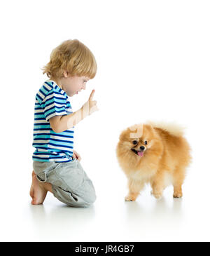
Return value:
<svg viewBox="0 0 210 256">
<path fill-rule="evenodd" d="M 192 161 L 190 151 L 183 128 L 173 123 L 148 121 L 123 130 L 116 154 L 128 179 L 125 201 L 135 201 L 146 183 L 157 199 L 169 184 L 174 186 L 174 198 L 182 197 L 181 186 Z"/>
</svg>

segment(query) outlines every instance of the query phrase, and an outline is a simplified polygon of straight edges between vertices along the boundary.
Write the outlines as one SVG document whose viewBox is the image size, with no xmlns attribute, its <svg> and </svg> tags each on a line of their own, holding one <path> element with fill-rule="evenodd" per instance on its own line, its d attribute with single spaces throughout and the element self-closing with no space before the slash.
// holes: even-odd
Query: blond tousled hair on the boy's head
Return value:
<svg viewBox="0 0 210 256">
<path fill-rule="evenodd" d="M 62 78 L 64 71 L 71 76 L 87 76 L 93 79 L 97 62 L 92 52 L 77 39 L 66 40 L 52 50 L 50 62 L 43 68 L 50 78 Z"/>
</svg>

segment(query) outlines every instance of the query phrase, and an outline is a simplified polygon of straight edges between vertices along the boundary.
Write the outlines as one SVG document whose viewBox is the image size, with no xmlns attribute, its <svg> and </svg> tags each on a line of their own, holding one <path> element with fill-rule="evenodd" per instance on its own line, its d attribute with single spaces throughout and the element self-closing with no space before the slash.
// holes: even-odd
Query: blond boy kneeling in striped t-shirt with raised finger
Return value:
<svg viewBox="0 0 210 256">
<path fill-rule="evenodd" d="M 73 130 L 86 116 L 97 111 L 94 90 L 83 107 L 71 111 L 69 97 L 85 90 L 97 64 L 91 51 L 80 41 L 67 40 L 52 50 L 43 74 L 50 78 L 36 93 L 31 203 L 41 204 L 50 191 L 59 201 L 73 207 L 88 207 L 96 196 L 92 181 L 73 150 Z"/>
</svg>

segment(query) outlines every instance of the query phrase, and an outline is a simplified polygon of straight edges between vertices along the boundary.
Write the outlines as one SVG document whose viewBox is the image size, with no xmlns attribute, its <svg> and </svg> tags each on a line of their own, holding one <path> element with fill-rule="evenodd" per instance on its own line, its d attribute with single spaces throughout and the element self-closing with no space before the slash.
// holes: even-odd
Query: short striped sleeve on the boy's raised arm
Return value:
<svg viewBox="0 0 210 256">
<path fill-rule="evenodd" d="M 46 121 L 49 121 L 53 116 L 63 116 L 67 114 L 66 100 L 66 95 L 59 93 L 55 88 L 52 88 L 52 90 L 45 95 L 41 107 L 43 108 Z"/>
</svg>

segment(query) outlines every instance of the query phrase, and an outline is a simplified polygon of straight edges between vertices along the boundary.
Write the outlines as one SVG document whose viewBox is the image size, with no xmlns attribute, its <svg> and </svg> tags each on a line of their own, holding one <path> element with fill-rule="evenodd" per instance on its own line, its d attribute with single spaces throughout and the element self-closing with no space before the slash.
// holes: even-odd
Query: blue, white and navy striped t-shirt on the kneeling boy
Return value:
<svg viewBox="0 0 210 256">
<path fill-rule="evenodd" d="M 73 160 L 74 126 L 62 133 L 55 133 L 49 121 L 52 116 L 71 113 L 73 112 L 66 92 L 55 81 L 45 81 L 35 99 L 32 144 L 36 148 L 32 156 L 34 161 L 62 163 Z"/>
</svg>

